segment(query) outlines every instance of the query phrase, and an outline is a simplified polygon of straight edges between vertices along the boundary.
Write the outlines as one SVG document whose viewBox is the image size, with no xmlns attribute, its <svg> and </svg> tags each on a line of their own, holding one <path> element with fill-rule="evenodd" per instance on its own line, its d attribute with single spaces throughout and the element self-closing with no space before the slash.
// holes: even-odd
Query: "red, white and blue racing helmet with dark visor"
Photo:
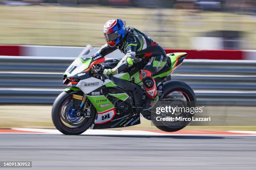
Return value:
<svg viewBox="0 0 256 170">
<path fill-rule="evenodd" d="M 109 20 L 105 23 L 103 32 L 108 45 L 114 47 L 125 37 L 125 21 L 120 19 Z"/>
</svg>

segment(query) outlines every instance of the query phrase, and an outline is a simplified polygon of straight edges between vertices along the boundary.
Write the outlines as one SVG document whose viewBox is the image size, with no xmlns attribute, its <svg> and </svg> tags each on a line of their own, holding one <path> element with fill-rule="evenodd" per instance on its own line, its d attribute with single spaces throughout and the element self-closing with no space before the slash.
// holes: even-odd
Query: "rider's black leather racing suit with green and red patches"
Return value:
<svg viewBox="0 0 256 170">
<path fill-rule="evenodd" d="M 142 60 L 147 64 L 141 70 L 141 81 L 143 82 L 148 97 L 156 97 L 156 82 L 153 75 L 159 72 L 166 64 L 166 53 L 157 42 L 133 27 L 126 27 L 126 35 L 122 42 L 115 47 L 108 44 L 103 45 L 95 55 L 105 56 L 119 49 L 125 54 L 118 65 L 113 68 L 113 73 L 122 72 Z"/>
</svg>

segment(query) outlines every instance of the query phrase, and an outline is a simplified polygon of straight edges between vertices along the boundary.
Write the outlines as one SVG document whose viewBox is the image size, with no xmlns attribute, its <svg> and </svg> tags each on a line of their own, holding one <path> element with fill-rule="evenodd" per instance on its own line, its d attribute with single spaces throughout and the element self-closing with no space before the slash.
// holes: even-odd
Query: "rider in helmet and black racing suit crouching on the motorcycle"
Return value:
<svg viewBox="0 0 256 170">
<path fill-rule="evenodd" d="M 141 70 L 140 78 L 145 86 L 146 95 L 149 97 L 146 106 L 151 108 L 159 99 L 156 82 L 152 76 L 159 72 L 166 63 L 167 57 L 164 49 L 143 32 L 130 26 L 126 27 L 125 21 L 121 19 L 109 20 L 105 23 L 103 32 L 107 43 L 94 56 L 105 56 L 116 49 L 125 54 L 115 68 L 105 69 L 103 74 L 115 75 L 141 61 L 146 61 L 147 64 Z"/>
</svg>

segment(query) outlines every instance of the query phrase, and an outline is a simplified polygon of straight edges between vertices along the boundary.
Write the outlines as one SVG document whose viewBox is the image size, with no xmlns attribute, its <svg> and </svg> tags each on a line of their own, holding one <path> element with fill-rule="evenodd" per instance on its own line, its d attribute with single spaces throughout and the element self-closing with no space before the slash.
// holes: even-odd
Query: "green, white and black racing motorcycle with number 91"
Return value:
<svg viewBox="0 0 256 170">
<path fill-rule="evenodd" d="M 115 67 L 121 59 L 91 57 L 93 50 L 95 51 L 91 45 L 87 45 L 64 72 L 63 83 L 68 88 L 54 101 L 51 114 L 55 127 L 61 133 L 79 135 L 88 128 L 106 129 L 138 125 L 141 115 L 151 120 L 160 130 L 167 132 L 187 126 L 189 121 L 157 121 L 154 118 L 156 115 L 144 108 L 148 98 L 140 79 L 140 71 L 147 62 L 141 62 L 113 76 L 105 76 L 102 74 L 103 70 Z M 192 88 L 184 82 L 171 80 L 170 76 L 186 56 L 185 52 L 167 54 L 168 60 L 164 68 L 157 75 L 153 75 L 159 102 L 179 101 L 185 103 L 186 107 L 195 107 L 196 97 Z M 168 113 L 163 112 L 158 116 L 166 117 Z"/>
</svg>

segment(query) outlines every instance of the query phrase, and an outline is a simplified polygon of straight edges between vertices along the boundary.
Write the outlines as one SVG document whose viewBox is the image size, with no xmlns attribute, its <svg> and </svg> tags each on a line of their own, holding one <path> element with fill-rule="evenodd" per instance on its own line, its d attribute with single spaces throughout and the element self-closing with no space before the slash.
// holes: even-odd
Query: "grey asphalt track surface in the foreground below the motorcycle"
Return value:
<svg viewBox="0 0 256 170">
<path fill-rule="evenodd" d="M 256 136 L 0 134 L 6 160 L 32 161 L 22 170 L 255 170 Z"/>
</svg>

